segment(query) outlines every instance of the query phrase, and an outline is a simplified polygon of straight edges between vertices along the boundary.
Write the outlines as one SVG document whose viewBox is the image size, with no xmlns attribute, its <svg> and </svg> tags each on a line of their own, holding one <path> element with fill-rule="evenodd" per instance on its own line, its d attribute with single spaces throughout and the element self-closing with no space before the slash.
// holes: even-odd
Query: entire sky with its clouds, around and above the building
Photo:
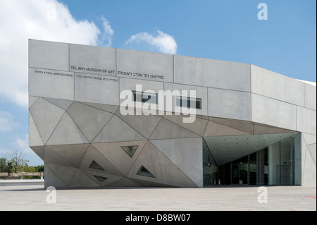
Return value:
<svg viewBox="0 0 317 225">
<path fill-rule="evenodd" d="M 262 2 L 268 20 L 258 19 Z M 31 165 L 43 162 L 27 147 L 29 38 L 252 63 L 316 82 L 314 0 L 4 0 L 0 27 L 0 152 L 23 150 Z"/>
</svg>

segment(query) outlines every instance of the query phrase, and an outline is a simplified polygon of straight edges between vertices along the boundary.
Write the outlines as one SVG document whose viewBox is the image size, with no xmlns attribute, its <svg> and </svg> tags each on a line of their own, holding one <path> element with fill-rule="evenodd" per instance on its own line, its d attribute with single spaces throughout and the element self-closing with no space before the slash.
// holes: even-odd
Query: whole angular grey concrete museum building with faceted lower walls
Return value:
<svg viewBox="0 0 317 225">
<path fill-rule="evenodd" d="M 316 83 L 249 63 L 30 39 L 29 130 L 45 187 L 316 185 Z"/>
</svg>

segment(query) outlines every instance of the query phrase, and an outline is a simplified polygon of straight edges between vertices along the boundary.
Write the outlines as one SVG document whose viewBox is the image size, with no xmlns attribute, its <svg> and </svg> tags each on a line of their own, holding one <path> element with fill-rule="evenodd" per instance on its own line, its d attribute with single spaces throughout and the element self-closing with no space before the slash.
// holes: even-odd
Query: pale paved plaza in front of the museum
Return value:
<svg viewBox="0 0 317 225">
<path fill-rule="evenodd" d="M 258 192 L 259 191 L 259 192 Z M 0 210 L 104 211 L 316 211 L 316 186 L 219 186 L 214 188 L 57 189 L 44 186 L 0 186 Z M 259 203 L 262 202 L 262 203 Z"/>
</svg>

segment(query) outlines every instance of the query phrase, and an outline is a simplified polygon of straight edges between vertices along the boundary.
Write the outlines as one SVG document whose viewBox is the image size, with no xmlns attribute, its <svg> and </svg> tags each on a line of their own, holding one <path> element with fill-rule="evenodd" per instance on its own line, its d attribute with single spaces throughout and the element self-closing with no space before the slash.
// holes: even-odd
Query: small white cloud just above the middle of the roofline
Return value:
<svg viewBox="0 0 317 225">
<path fill-rule="evenodd" d="M 170 36 L 161 30 L 157 30 L 158 35 L 154 37 L 148 32 L 139 32 L 136 35 L 132 35 L 125 44 L 130 44 L 136 42 L 139 44 L 140 42 L 146 42 L 150 44 L 152 47 L 158 49 L 162 53 L 166 54 L 176 54 L 178 49 L 178 45 L 175 42 L 173 36 Z"/>
</svg>

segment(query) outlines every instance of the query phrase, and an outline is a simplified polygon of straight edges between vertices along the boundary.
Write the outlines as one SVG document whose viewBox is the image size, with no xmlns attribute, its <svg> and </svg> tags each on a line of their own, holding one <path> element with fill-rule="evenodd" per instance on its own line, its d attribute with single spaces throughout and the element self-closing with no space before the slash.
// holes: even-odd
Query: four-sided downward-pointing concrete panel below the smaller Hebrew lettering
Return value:
<svg viewBox="0 0 317 225">
<path fill-rule="evenodd" d="M 78 128 L 82 130 L 85 137 L 91 142 L 102 128 L 108 123 L 113 114 L 107 111 L 89 107 L 85 104 L 73 102 L 67 110 Z"/>
</svg>

